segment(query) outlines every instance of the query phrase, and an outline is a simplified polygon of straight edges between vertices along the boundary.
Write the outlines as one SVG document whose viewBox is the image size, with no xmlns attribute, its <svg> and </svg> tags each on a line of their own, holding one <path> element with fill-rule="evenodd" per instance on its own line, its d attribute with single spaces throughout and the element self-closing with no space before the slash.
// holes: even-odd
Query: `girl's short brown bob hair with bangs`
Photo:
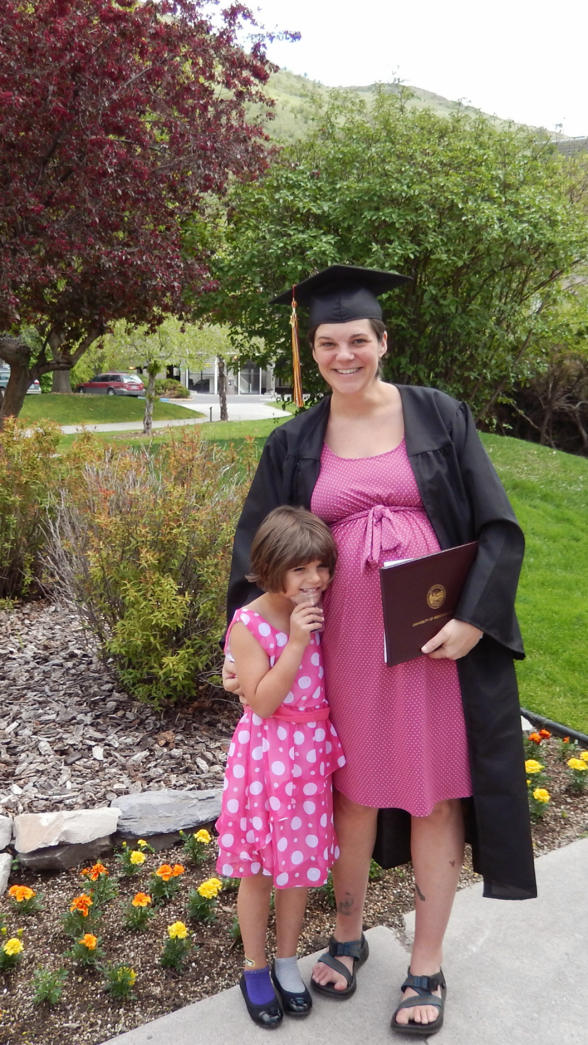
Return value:
<svg viewBox="0 0 588 1045">
<path fill-rule="evenodd" d="M 337 550 L 328 526 L 306 508 L 282 505 L 265 516 L 253 538 L 248 580 L 263 591 L 283 591 L 286 572 L 315 559 L 332 578 Z"/>
</svg>

